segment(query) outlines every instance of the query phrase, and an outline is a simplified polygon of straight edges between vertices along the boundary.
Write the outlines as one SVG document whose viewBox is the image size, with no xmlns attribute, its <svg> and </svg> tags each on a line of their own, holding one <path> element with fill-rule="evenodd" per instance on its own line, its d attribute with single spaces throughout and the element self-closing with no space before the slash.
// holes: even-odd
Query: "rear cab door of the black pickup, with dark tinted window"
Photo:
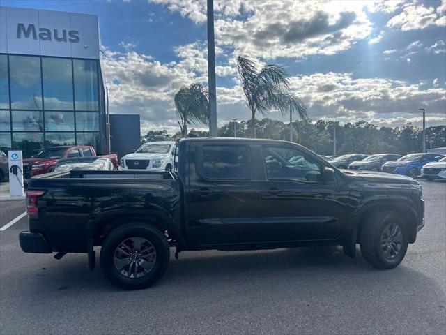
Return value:
<svg viewBox="0 0 446 335">
<path fill-rule="evenodd" d="M 189 157 L 188 240 L 198 246 L 258 241 L 259 180 L 249 143 L 192 142 Z"/>
</svg>

